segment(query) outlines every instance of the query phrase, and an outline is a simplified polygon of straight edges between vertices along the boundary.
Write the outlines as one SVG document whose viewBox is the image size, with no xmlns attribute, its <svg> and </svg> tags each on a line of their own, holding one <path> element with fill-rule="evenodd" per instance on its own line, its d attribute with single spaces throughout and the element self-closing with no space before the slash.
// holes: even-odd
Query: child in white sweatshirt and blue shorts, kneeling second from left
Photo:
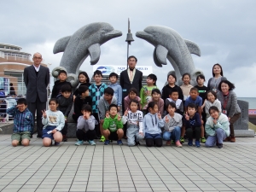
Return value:
<svg viewBox="0 0 256 192">
<path fill-rule="evenodd" d="M 61 111 L 58 111 L 58 101 L 53 98 L 49 100 L 49 110 L 42 111 L 43 119 L 43 144 L 44 147 L 51 145 L 52 139 L 55 140 L 55 145 L 59 145 L 62 141 L 61 130 L 65 125 L 65 117 Z"/>
</svg>

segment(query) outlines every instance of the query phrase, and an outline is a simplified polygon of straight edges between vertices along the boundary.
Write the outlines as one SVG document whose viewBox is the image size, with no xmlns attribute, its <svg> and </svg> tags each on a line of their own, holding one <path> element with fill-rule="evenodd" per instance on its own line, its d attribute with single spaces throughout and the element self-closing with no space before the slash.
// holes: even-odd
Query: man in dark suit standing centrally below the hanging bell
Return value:
<svg viewBox="0 0 256 192">
<path fill-rule="evenodd" d="M 143 87 L 143 73 L 135 68 L 137 64 L 137 58 L 135 56 L 129 56 L 127 63 L 129 67 L 120 73 L 120 85 L 123 89 L 123 102 L 131 87 L 137 89 L 138 96 L 140 90 Z"/>
</svg>

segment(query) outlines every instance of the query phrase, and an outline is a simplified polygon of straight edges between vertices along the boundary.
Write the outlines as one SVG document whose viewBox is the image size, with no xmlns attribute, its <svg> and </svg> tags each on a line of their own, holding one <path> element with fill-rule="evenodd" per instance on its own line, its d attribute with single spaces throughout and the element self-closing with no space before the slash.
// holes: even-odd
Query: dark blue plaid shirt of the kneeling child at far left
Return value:
<svg viewBox="0 0 256 192">
<path fill-rule="evenodd" d="M 33 115 L 27 108 L 20 112 L 15 106 L 8 108 L 7 113 L 14 116 L 14 132 L 32 131 L 34 127 Z"/>
</svg>

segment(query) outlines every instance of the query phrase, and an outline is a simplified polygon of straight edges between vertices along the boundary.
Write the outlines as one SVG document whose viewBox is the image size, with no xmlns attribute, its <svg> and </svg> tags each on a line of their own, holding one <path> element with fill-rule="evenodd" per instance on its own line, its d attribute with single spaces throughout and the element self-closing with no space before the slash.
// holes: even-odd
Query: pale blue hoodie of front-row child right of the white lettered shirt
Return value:
<svg viewBox="0 0 256 192">
<path fill-rule="evenodd" d="M 164 127 L 165 122 L 163 119 L 158 119 L 157 113 L 147 113 L 143 119 L 143 130 L 149 134 L 160 134 L 160 128 Z"/>
</svg>

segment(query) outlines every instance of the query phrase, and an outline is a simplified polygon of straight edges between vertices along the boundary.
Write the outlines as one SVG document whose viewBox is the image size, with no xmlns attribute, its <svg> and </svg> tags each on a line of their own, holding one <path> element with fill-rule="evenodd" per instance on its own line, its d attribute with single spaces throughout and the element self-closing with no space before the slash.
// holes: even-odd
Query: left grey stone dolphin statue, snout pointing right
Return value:
<svg viewBox="0 0 256 192">
<path fill-rule="evenodd" d="M 79 79 L 77 78 L 79 67 L 86 57 L 90 55 L 90 65 L 95 65 L 100 59 L 100 46 L 108 40 L 119 36 L 122 36 L 122 32 L 114 30 L 113 26 L 108 23 L 90 23 L 74 32 L 72 36 L 59 39 L 55 43 L 53 53 L 64 52 L 60 67 L 66 69 L 68 73 L 67 80 L 73 86 L 76 86 L 79 84 Z"/>
</svg>

